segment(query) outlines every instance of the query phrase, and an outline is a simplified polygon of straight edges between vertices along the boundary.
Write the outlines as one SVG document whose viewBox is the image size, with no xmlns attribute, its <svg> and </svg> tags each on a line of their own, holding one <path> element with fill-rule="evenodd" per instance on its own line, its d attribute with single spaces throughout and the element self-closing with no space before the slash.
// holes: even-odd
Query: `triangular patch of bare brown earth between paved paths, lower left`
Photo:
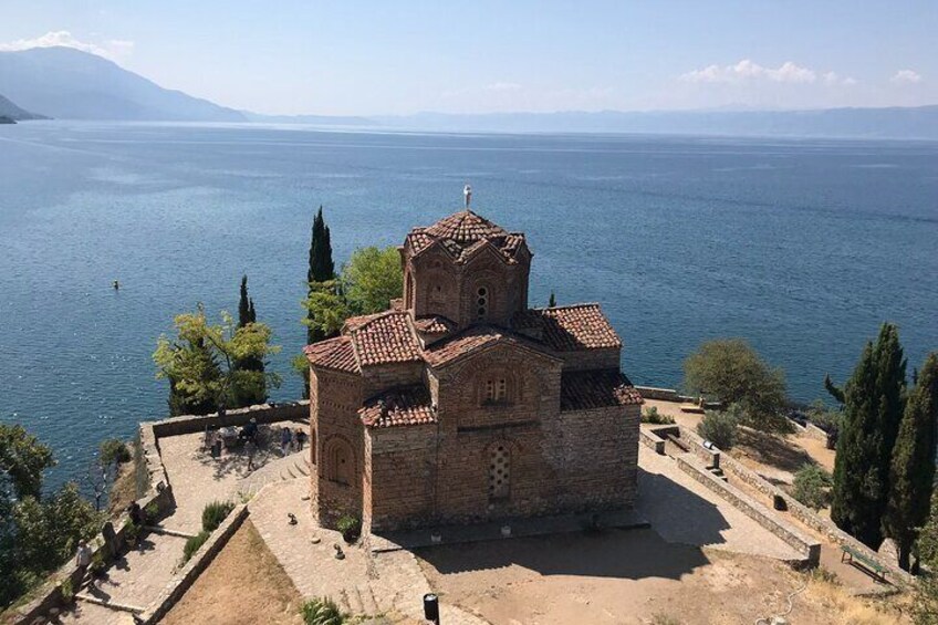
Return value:
<svg viewBox="0 0 938 625">
<path fill-rule="evenodd" d="M 299 625 L 302 603 L 249 519 L 160 623 Z"/>
</svg>

